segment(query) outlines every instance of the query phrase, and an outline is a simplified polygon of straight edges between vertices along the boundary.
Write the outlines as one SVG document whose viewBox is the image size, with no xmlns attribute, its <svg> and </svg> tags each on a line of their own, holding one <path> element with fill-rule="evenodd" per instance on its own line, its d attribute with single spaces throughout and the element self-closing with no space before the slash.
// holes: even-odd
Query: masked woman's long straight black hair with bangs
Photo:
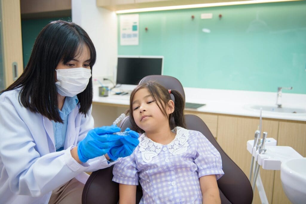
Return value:
<svg viewBox="0 0 306 204">
<path fill-rule="evenodd" d="M 37 36 L 27 66 L 21 76 L 2 92 L 21 87 L 19 102 L 32 112 L 63 122 L 58 111 L 55 68 L 82 54 L 87 47 L 90 69 L 95 64 L 96 51 L 88 34 L 77 24 L 63 20 L 50 22 Z M 88 114 L 92 103 L 92 77 L 86 89 L 77 95 L 79 112 Z"/>
</svg>

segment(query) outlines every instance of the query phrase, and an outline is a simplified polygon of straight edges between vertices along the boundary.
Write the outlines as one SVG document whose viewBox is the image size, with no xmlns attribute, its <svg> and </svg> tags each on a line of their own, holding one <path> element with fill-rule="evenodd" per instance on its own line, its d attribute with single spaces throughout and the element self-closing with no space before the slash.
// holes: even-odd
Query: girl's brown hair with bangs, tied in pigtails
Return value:
<svg viewBox="0 0 306 204">
<path fill-rule="evenodd" d="M 130 107 L 127 113 L 130 114 L 130 121 L 132 123 L 133 129 L 136 132 L 144 133 L 144 130 L 136 125 L 136 122 L 133 117 L 132 104 L 135 93 L 139 89 L 144 89 L 144 88 L 151 93 L 153 100 L 156 102 L 160 111 L 162 111 L 162 114 L 168 117 L 169 126 L 171 130 L 174 129 L 176 126 L 186 128 L 186 122 L 184 117 L 185 100 L 182 97 L 182 95 L 176 90 L 171 90 L 171 94 L 173 94 L 174 96 L 174 112 L 168 115 L 166 111 L 166 106 L 169 100 L 172 100 L 168 89 L 166 89 L 165 87 L 163 87 L 162 85 L 160 85 L 155 81 L 147 81 L 136 86 L 136 88 L 132 91 L 130 96 Z M 159 104 L 161 104 L 161 106 L 159 106 Z"/>
</svg>

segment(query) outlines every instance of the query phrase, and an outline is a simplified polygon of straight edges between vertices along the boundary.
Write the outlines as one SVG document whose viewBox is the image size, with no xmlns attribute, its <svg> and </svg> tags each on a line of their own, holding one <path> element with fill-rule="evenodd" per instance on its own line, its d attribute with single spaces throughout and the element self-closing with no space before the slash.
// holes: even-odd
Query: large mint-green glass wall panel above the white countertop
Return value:
<svg viewBox="0 0 306 204">
<path fill-rule="evenodd" d="M 138 46 L 120 46 L 120 15 L 118 55 L 162 55 L 185 87 L 306 94 L 306 1 L 139 13 Z"/>
</svg>

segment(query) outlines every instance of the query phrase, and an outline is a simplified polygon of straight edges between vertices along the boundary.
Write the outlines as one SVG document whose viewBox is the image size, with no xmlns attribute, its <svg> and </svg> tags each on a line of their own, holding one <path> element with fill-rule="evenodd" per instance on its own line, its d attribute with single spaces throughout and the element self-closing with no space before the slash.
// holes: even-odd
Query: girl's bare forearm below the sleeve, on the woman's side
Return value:
<svg viewBox="0 0 306 204">
<path fill-rule="evenodd" d="M 119 204 L 136 203 L 136 185 L 119 184 Z"/>
</svg>

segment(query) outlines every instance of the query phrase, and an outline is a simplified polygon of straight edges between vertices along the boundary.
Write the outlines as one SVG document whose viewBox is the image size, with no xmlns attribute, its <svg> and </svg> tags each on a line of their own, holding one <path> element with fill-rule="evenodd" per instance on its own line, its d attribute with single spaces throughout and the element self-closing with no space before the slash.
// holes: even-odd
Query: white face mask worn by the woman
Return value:
<svg viewBox="0 0 306 204">
<path fill-rule="evenodd" d="M 73 97 L 84 91 L 91 77 L 91 70 L 83 67 L 57 69 L 58 82 L 55 82 L 58 93 L 62 96 Z"/>
</svg>

